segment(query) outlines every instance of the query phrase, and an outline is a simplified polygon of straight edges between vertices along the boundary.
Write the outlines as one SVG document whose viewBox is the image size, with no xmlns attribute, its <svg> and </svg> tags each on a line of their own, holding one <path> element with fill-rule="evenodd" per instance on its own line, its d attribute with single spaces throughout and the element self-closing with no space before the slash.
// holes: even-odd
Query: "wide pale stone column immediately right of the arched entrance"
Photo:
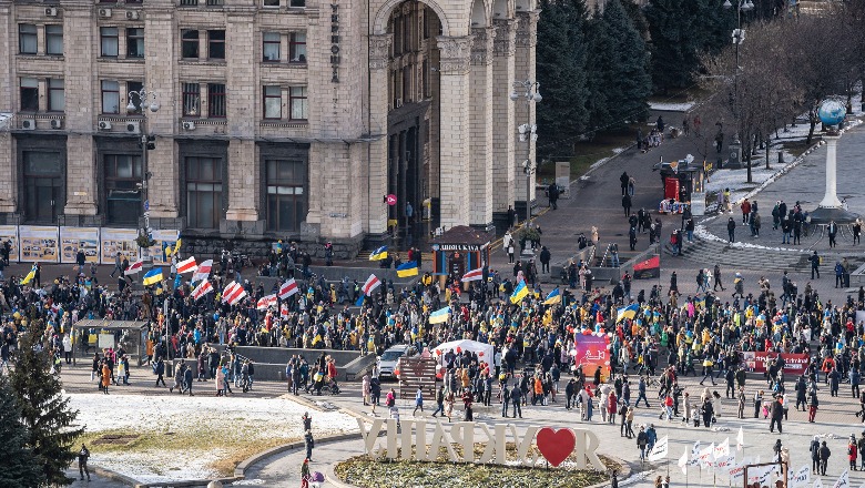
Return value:
<svg viewBox="0 0 865 488">
<path fill-rule="evenodd" d="M 447 228 L 469 224 L 469 202 L 475 199 L 469 187 L 469 72 L 471 35 L 438 37 L 441 89 L 441 226 Z"/>
</svg>

